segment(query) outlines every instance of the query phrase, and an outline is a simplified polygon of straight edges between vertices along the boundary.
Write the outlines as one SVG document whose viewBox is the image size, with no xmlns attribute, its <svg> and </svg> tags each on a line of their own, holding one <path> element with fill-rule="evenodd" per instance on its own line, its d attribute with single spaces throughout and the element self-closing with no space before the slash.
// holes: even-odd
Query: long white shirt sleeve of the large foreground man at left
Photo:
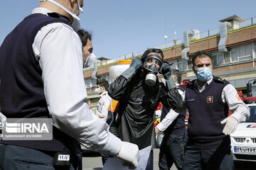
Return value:
<svg viewBox="0 0 256 170">
<path fill-rule="evenodd" d="M 85 103 L 87 92 L 78 34 L 63 23 L 51 23 L 36 35 L 33 52 L 43 71 L 44 94 L 53 125 L 92 150 L 118 154 L 121 140 Z"/>
</svg>

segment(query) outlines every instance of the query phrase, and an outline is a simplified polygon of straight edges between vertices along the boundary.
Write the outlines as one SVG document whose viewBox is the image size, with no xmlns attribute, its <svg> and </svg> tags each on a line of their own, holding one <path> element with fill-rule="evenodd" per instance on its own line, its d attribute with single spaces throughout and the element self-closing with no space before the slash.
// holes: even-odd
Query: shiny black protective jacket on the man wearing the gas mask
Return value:
<svg viewBox="0 0 256 170">
<path fill-rule="evenodd" d="M 139 149 L 154 144 L 154 111 L 159 102 L 168 108 L 179 108 L 182 102 L 176 88 L 167 91 L 158 80 L 154 86 L 147 86 L 144 79 L 142 71 L 131 81 L 121 75 L 110 84 L 108 91 L 111 98 L 119 101 L 119 137 L 122 141 L 137 144 Z"/>
</svg>

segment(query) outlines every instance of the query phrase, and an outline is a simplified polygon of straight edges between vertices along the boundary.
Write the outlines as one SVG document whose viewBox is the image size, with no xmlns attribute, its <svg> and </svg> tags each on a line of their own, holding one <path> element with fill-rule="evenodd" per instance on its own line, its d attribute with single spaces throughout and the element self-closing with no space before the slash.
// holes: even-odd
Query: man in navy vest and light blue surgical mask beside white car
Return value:
<svg viewBox="0 0 256 170">
<path fill-rule="evenodd" d="M 183 97 L 189 118 L 182 169 L 235 169 L 229 135 L 249 117 L 249 108 L 234 86 L 212 75 L 210 52 L 198 51 L 191 58 L 197 79 L 186 86 Z M 228 109 L 233 113 L 229 117 Z"/>
</svg>

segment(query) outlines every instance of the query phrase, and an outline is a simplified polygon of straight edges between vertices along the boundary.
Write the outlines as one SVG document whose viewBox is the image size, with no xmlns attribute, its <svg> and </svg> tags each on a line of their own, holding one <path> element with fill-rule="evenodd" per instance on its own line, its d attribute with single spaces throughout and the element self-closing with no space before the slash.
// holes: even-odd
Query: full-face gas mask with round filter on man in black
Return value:
<svg viewBox="0 0 256 170">
<path fill-rule="evenodd" d="M 156 84 L 156 74 L 161 72 L 162 64 L 163 60 L 157 53 L 146 57 L 143 67 L 146 70 L 145 83 L 148 86 L 154 86 Z"/>
</svg>

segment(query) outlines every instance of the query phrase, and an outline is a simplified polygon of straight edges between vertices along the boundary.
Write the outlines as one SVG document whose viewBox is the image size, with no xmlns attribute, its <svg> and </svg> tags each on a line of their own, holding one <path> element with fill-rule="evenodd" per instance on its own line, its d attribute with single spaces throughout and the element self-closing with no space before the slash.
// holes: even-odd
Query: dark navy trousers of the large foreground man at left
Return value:
<svg viewBox="0 0 256 170">
<path fill-rule="evenodd" d="M 82 169 L 82 157 L 75 153 L 70 153 L 69 166 L 53 166 L 54 154 L 54 152 L 41 152 L 27 147 L 0 144 L 0 170 Z"/>
</svg>

